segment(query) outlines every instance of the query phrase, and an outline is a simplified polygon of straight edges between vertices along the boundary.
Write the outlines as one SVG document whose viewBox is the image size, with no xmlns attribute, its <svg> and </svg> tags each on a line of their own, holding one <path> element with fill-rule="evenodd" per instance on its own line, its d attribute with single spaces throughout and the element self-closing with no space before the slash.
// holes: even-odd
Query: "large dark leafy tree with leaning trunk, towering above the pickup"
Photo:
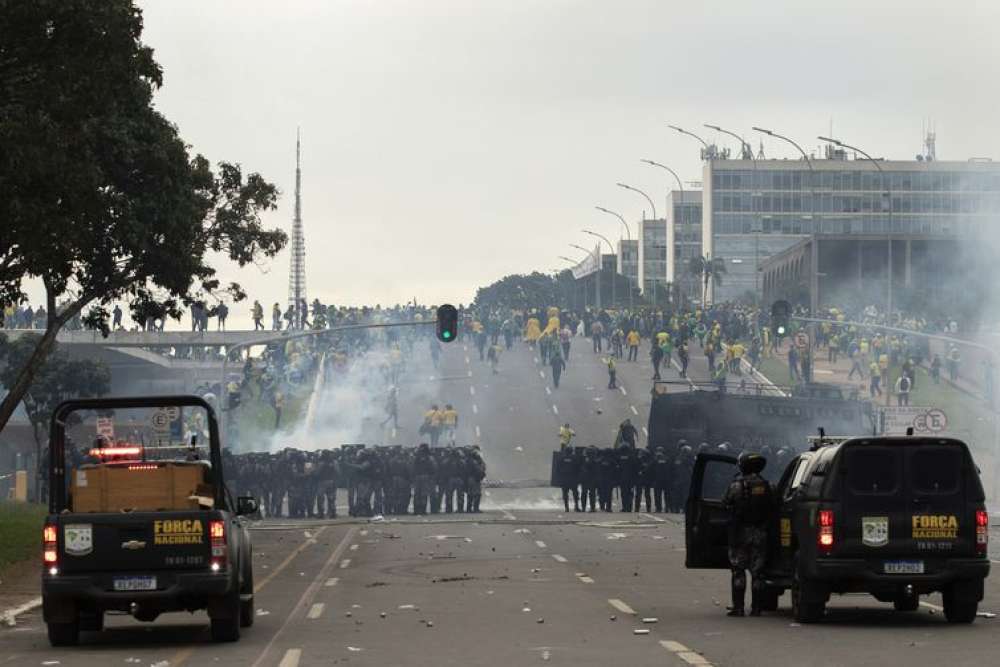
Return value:
<svg viewBox="0 0 1000 667">
<path fill-rule="evenodd" d="M 37 279 L 48 314 L 0 429 L 85 308 L 106 333 L 114 300 L 141 310 L 165 294 L 179 317 L 206 292 L 238 299 L 211 257 L 245 266 L 287 241 L 260 220 L 274 185 L 226 162 L 213 173 L 153 108 L 163 77 L 141 34 L 131 0 L 0 0 L 0 307 Z"/>
</svg>

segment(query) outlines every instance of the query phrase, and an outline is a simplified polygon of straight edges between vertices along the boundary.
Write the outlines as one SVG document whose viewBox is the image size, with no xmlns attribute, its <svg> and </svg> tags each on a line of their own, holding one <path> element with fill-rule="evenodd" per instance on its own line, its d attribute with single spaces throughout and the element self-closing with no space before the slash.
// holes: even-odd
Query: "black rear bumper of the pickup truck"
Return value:
<svg viewBox="0 0 1000 667">
<path fill-rule="evenodd" d="M 46 622 L 70 621 L 80 608 L 128 611 L 134 603 L 144 611 L 202 609 L 209 598 L 232 592 L 231 573 L 169 572 L 155 574 L 155 591 L 114 591 L 111 573 L 46 575 L 42 580 L 43 614 Z"/>
</svg>

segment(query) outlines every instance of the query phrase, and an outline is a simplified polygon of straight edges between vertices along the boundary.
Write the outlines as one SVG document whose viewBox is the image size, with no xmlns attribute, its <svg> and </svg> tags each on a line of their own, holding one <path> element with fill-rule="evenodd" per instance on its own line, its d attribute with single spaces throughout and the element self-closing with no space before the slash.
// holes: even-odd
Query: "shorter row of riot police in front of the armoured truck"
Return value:
<svg viewBox="0 0 1000 667">
<path fill-rule="evenodd" d="M 654 444 L 637 448 L 628 443 L 613 447 L 567 446 L 552 453 L 551 485 L 562 490 L 563 507 L 576 512 L 683 512 L 691 485 L 691 472 L 699 454 L 739 456 L 761 454 L 772 461 L 771 474 L 784 469 L 796 451 L 788 446 L 771 447 L 759 441 L 707 442 L 697 447 L 679 440 L 676 445 Z M 731 480 L 706 480 L 706 488 L 718 497 Z"/>
</svg>

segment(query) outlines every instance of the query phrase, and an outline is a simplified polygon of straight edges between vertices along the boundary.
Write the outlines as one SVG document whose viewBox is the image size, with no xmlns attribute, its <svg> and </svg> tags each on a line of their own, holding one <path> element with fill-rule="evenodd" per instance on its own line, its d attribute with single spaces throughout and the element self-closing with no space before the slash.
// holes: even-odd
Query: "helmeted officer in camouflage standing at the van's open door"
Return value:
<svg viewBox="0 0 1000 667">
<path fill-rule="evenodd" d="M 743 616 L 746 570 L 751 576 L 750 615 L 760 615 L 764 582 L 761 574 L 767 562 L 768 526 L 774 514 L 774 492 L 760 476 L 767 459 L 744 452 L 739 457 L 740 474 L 723 496 L 729 511 L 729 564 L 732 568 L 733 606 L 728 616 Z"/>
</svg>

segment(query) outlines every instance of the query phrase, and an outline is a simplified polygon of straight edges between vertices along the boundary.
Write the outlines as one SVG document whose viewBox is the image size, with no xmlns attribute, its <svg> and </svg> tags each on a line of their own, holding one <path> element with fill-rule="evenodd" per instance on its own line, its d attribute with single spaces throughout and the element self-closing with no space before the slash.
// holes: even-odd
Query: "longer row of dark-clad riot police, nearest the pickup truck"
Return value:
<svg viewBox="0 0 1000 667">
<path fill-rule="evenodd" d="M 258 498 L 266 517 L 337 518 L 340 490 L 352 517 L 478 513 L 486 477 L 478 446 L 353 444 L 228 456 L 240 493 Z"/>
</svg>

